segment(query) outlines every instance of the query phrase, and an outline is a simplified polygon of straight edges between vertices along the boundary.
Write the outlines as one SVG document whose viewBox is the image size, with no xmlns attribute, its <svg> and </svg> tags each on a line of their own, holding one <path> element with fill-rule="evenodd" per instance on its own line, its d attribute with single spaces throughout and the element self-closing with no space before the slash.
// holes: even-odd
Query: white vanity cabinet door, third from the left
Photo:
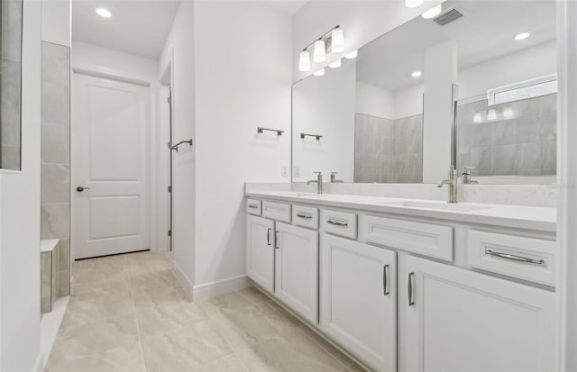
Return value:
<svg viewBox="0 0 577 372">
<path fill-rule="evenodd" d="M 378 371 L 397 370 L 397 253 L 323 234 L 321 328 Z"/>
</svg>

